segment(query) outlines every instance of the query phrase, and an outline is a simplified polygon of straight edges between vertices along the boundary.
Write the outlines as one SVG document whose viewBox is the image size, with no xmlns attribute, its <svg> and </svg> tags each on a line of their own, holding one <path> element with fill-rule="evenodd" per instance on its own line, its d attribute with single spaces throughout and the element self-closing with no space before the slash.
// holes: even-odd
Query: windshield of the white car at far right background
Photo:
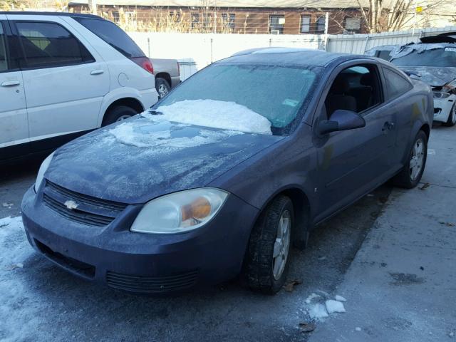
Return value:
<svg viewBox="0 0 456 342">
<path fill-rule="evenodd" d="M 413 51 L 406 56 L 393 58 L 396 66 L 456 66 L 456 48 L 434 48 Z"/>
</svg>

